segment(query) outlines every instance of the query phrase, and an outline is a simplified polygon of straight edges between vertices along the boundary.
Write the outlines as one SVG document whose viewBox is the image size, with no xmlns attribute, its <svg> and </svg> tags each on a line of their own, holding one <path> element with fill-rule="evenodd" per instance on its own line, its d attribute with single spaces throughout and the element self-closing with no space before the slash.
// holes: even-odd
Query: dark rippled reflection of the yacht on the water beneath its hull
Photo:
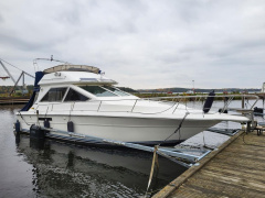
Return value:
<svg viewBox="0 0 265 198">
<path fill-rule="evenodd" d="M 33 190 L 47 197 L 139 197 L 148 183 L 150 153 L 76 146 L 20 136 L 18 152 L 33 165 Z M 186 168 L 159 157 L 150 190 L 162 188 Z"/>
</svg>

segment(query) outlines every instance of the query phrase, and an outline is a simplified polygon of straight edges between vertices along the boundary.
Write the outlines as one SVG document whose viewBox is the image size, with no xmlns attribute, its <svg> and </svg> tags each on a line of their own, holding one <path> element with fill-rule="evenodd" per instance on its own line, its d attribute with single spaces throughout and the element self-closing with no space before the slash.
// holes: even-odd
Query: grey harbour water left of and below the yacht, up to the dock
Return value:
<svg viewBox="0 0 265 198">
<path fill-rule="evenodd" d="M 139 197 L 145 195 L 152 154 L 77 146 L 13 134 L 21 107 L 0 107 L 0 197 Z M 186 168 L 159 156 L 151 191 Z"/>
</svg>

